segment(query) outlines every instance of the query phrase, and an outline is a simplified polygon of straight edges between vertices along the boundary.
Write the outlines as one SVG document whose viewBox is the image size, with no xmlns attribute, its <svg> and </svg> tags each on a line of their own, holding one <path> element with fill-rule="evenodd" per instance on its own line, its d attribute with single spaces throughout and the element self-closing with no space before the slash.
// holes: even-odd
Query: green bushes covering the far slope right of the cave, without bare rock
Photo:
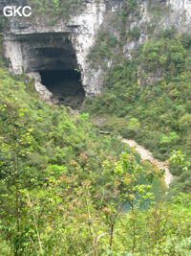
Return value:
<svg viewBox="0 0 191 256">
<path fill-rule="evenodd" d="M 105 67 L 105 87 L 96 99 L 87 100 L 86 111 L 88 108 L 93 115 L 104 116 L 104 128 L 135 138 L 159 159 L 168 159 L 173 151 L 180 150 L 189 160 L 191 36 L 174 29 L 162 31 L 128 59 L 119 53 L 120 40 L 107 34 L 100 43 L 102 35 L 98 35 L 89 58 L 93 63 L 97 58 Z M 110 69 L 105 64 L 108 59 L 113 60 Z M 183 172 L 180 166 L 171 165 L 171 171 L 180 176 L 177 189 L 190 191 L 190 169 Z"/>
</svg>

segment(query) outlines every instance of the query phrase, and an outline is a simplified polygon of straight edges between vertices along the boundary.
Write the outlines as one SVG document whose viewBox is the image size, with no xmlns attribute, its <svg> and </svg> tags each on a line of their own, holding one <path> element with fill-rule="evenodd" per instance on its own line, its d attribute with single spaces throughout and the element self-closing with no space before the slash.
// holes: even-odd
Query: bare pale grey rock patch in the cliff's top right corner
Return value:
<svg viewBox="0 0 191 256">
<path fill-rule="evenodd" d="M 138 47 L 149 37 L 160 30 L 176 28 L 180 33 L 190 33 L 191 26 L 191 0 L 137 0 L 138 15 L 130 14 L 131 22 L 127 30 L 135 27 L 140 29 L 138 40 L 130 40 L 123 46 L 127 57 L 131 51 Z"/>
</svg>

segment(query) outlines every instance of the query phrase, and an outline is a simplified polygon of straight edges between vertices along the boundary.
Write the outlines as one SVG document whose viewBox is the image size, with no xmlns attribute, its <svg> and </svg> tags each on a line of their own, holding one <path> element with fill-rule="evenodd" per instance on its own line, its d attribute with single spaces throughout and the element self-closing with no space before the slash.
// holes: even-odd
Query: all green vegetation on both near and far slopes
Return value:
<svg viewBox="0 0 191 256">
<path fill-rule="evenodd" d="M 125 1 L 122 22 L 135 3 Z M 139 29 L 121 36 L 137 40 Z M 90 59 L 106 70 L 104 59 L 114 64 L 103 94 L 78 115 L 39 100 L 33 81 L 7 71 L 1 48 L 0 255 L 190 255 L 190 194 L 166 200 L 159 190 L 156 198 L 159 170 L 115 136 L 100 134 L 87 111 L 160 158 L 176 150 L 173 170 L 185 179 L 191 39 L 162 33 L 131 60 L 113 54 L 121 50 L 116 36 L 102 32 L 97 40 Z M 149 81 L 156 72 L 159 79 Z M 189 192 L 189 180 L 179 189 Z"/>
</svg>

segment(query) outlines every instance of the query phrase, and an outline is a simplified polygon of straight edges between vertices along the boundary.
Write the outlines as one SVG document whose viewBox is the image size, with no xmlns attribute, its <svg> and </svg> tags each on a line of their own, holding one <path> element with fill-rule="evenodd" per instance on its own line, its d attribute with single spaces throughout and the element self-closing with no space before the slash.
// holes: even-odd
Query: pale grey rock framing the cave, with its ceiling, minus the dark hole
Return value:
<svg viewBox="0 0 191 256">
<path fill-rule="evenodd" d="M 37 73 L 41 70 L 78 69 L 86 95 L 99 93 L 100 72 L 90 69 L 86 57 L 106 11 L 105 1 L 87 1 L 84 12 L 67 22 L 58 20 L 54 25 L 44 24 L 39 17 L 35 23 L 26 17 L 11 18 L 10 32 L 4 41 L 11 70 L 14 74 L 31 74 L 36 80 L 36 90 L 46 100 L 52 94 L 40 84 Z"/>
</svg>

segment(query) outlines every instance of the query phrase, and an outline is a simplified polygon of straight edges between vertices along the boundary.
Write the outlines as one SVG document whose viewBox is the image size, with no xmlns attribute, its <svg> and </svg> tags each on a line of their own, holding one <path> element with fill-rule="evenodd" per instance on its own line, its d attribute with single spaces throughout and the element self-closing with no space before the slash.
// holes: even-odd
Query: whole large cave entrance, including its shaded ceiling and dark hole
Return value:
<svg viewBox="0 0 191 256">
<path fill-rule="evenodd" d="M 76 71 L 79 66 L 70 35 L 22 35 L 20 41 L 25 72 L 37 73 L 38 79 L 38 74 L 40 75 L 40 82 L 53 94 L 53 98 L 50 96 L 53 104 L 78 108 L 83 103 L 85 91 L 81 73 Z M 41 88 L 38 91 L 41 95 L 44 93 Z M 48 96 L 45 95 L 46 97 Z"/>
</svg>

